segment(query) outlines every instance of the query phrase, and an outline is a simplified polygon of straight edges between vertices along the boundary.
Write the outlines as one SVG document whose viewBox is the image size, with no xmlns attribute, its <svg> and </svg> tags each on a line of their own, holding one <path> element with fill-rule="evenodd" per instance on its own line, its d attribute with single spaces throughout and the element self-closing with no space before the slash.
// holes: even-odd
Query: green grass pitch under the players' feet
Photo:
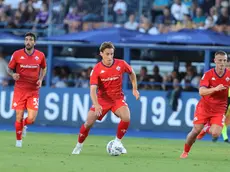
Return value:
<svg viewBox="0 0 230 172">
<path fill-rule="evenodd" d="M 217 172 L 230 168 L 230 145 L 197 141 L 188 159 L 179 159 L 183 140 L 123 139 L 128 154 L 106 153 L 109 136 L 87 138 L 80 155 L 71 155 L 77 135 L 28 133 L 23 148 L 14 132 L 0 132 L 0 172 Z"/>
</svg>

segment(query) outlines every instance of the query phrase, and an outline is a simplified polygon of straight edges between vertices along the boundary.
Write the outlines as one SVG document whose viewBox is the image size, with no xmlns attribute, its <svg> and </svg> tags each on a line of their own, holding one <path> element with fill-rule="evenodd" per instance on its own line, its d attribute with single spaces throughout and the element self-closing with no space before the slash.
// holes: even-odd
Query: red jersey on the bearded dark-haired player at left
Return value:
<svg viewBox="0 0 230 172">
<path fill-rule="evenodd" d="M 40 69 L 46 67 L 45 55 L 36 49 L 28 55 L 25 49 L 13 53 L 8 67 L 16 70 L 20 78 L 15 81 L 15 88 L 37 90 Z"/>
</svg>

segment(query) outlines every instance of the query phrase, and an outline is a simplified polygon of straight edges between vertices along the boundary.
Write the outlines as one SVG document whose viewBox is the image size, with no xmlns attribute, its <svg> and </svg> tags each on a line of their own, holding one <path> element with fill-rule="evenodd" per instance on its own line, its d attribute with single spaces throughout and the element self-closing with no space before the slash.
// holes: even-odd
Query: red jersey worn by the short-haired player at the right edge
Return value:
<svg viewBox="0 0 230 172">
<path fill-rule="evenodd" d="M 197 105 L 200 108 L 197 109 L 205 110 L 210 114 L 224 114 L 226 112 L 228 87 L 230 86 L 230 71 L 226 69 L 224 74 L 219 76 L 213 68 L 205 72 L 200 80 L 200 87 L 212 88 L 218 86 L 219 84 L 223 84 L 227 87 L 227 89 L 216 91 L 207 96 L 202 96 Z"/>
</svg>

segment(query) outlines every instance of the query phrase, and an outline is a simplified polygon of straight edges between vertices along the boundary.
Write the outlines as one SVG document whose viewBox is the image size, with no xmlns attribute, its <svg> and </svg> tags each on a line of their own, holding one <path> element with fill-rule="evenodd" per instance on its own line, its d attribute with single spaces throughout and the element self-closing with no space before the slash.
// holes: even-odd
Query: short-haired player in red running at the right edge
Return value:
<svg viewBox="0 0 230 172">
<path fill-rule="evenodd" d="M 199 88 L 201 99 L 196 106 L 194 126 L 187 135 L 181 158 L 187 158 L 198 134 L 204 128 L 204 124 L 210 123 L 210 127 L 204 129 L 212 137 L 218 137 L 221 134 L 230 85 L 230 71 L 226 69 L 227 54 L 224 51 L 216 52 L 214 62 L 215 68 L 205 72 L 201 78 Z"/>
</svg>

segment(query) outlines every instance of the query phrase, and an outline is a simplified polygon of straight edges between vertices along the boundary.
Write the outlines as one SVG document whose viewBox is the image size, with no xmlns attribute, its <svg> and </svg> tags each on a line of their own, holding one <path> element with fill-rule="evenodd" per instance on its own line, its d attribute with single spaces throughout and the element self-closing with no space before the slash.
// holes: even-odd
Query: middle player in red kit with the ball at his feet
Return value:
<svg viewBox="0 0 230 172">
<path fill-rule="evenodd" d="M 139 92 L 136 74 L 124 60 L 113 57 L 114 50 L 115 47 L 111 42 L 104 42 L 100 46 L 102 61 L 95 65 L 90 76 L 90 96 L 93 105 L 88 112 L 86 122 L 80 128 L 78 143 L 72 154 L 80 154 L 90 128 L 96 120 L 102 120 L 109 110 L 121 119 L 115 141 L 120 145 L 122 153 L 127 153 L 121 143 L 130 123 L 130 111 L 122 92 L 122 75 L 124 73 L 129 74 L 133 95 L 136 99 L 139 99 Z"/>
</svg>

